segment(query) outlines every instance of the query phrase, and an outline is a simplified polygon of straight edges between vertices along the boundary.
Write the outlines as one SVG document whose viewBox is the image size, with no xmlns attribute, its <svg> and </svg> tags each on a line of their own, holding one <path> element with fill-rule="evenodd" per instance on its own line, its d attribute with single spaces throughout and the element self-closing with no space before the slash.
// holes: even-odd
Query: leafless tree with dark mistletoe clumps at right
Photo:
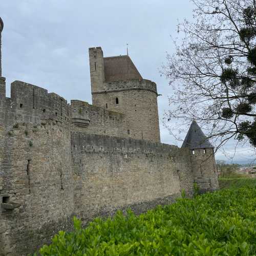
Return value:
<svg viewBox="0 0 256 256">
<path fill-rule="evenodd" d="M 187 130 L 195 119 L 217 148 L 229 139 L 256 146 L 255 0 L 193 0 L 194 22 L 178 25 L 181 42 L 162 73 L 174 94 L 164 123 Z M 180 41 L 180 40 L 179 40 Z M 178 122 L 175 121 L 178 120 Z M 175 133 L 174 133 L 175 134 Z"/>
</svg>

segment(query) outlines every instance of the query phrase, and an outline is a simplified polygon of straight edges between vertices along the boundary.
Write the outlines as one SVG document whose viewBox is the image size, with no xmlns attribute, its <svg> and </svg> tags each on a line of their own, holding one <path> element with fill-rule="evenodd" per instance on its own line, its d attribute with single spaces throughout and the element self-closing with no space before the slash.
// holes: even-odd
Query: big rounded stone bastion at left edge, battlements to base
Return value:
<svg viewBox="0 0 256 256">
<path fill-rule="evenodd" d="M 28 83 L 0 78 L 0 255 L 23 255 L 70 226 L 70 105 Z"/>
</svg>

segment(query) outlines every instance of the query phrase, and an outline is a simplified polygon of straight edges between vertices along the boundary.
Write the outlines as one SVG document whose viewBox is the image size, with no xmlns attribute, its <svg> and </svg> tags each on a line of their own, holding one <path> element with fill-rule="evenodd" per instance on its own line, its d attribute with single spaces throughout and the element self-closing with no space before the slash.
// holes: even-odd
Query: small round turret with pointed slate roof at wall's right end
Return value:
<svg viewBox="0 0 256 256">
<path fill-rule="evenodd" d="M 194 182 L 201 192 L 219 188 L 218 174 L 214 156 L 214 146 L 194 120 L 187 132 L 182 147 L 191 150 L 191 167 Z"/>
</svg>

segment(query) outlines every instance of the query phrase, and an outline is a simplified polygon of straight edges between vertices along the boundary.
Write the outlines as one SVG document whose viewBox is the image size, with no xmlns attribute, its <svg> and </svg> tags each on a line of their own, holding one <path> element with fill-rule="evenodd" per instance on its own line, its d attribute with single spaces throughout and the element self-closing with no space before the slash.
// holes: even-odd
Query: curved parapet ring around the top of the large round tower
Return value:
<svg viewBox="0 0 256 256">
<path fill-rule="evenodd" d="M 127 81 L 104 82 L 103 91 L 92 92 L 92 94 L 125 90 L 146 90 L 157 94 L 156 83 L 147 79 L 130 79 Z"/>
</svg>

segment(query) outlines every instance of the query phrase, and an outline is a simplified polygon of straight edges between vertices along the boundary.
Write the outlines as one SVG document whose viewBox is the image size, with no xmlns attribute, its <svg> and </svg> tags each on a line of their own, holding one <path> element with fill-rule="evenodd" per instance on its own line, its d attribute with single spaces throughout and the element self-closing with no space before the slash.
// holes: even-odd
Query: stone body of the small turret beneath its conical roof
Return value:
<svg viewBox="0 0 256 256">
<path fill-rule="evenodd" d="M 219 189 L 214 148 L 198 148 L 191 151 L 191 166 L 194 181 L 201 192 Z"/>
</svg>

